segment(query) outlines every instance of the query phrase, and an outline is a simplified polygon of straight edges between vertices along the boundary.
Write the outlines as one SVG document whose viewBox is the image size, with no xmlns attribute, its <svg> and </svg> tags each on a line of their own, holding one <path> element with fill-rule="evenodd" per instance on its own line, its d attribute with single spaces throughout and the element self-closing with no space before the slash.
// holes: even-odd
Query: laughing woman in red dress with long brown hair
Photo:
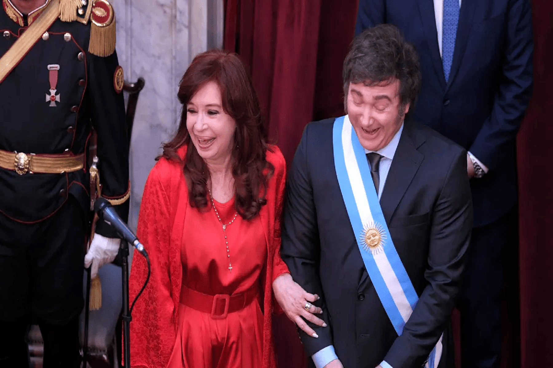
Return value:
<svg viewBox="0 0 553 368">
<path fill-rule="evenodd" d="M 152 275 L 134 307 L 131 366 L 274 368 L 271 286 L 288 273 L 279 255 L 284 157 L 264 141 L 259 102 L 236 55 L 197 55 L 178 97 L 179 129 L 140 207 Z M 146 275 L 137 255 L 131 300 Z"/>
</svg>

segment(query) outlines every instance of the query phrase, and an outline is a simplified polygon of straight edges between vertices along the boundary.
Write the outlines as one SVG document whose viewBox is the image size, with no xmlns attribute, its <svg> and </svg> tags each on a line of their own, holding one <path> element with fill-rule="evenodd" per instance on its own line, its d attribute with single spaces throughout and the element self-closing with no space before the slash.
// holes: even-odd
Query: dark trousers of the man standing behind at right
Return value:
<svg viewBox="0 0 553 368">
<path fill-rule="evenodd" d="M 499 220 L 472 230 L 458 302 L 461 312 L 461 361 L 466 368 L 500 366 L 502 253 L 507 244 L 517 240 L 514 239 L 517 237 L 515 215 L 515 210 L 510 211 Z M 516 247 L 512 248 L 510 251 L 517 251 Z"/>
</svg>

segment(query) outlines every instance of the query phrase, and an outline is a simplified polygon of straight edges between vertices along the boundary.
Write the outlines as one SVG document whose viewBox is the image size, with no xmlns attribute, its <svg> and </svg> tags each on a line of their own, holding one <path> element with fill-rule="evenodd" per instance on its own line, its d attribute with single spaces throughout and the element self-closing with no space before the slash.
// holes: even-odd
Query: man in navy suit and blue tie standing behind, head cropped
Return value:
<svg viewBox="0 0 553 368">
<path fill-rule="evenodd" d="M 532 89 L 529 0 L 361 0 L 356 33 L 389 23 L 419 52 L 413 116 L 468 151 L 474 230 L 458 307 L 462 363 L 499 367 L 502 250 L 516 228 L 515 137 Z"/>
</svg>

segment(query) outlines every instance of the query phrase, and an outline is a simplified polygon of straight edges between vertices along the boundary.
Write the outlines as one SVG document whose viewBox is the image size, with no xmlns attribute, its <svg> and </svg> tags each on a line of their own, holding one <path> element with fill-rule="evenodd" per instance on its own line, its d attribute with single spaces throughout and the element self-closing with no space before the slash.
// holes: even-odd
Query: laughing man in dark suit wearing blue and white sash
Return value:
<svg viewBox="0 0 553 368">
<path fill-rule="evenodd" d="M 307 125 L 289 174 L 281 255 L 328 323 L 300 337 L 317 368 L 451 366 L 466 151 L 404 119 L 420 72 L 395 26 L 353 41 L 343 80 L 347 115 Z"/>
</svg>

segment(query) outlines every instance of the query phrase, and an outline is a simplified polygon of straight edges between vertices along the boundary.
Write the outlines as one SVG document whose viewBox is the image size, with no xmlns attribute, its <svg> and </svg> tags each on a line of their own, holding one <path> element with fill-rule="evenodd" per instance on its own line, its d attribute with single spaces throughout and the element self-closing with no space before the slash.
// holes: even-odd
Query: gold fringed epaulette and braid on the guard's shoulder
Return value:
<svg viewBox="0 0 553 368">
<path fill-rule="evenodd" d="M 77 20 L 87 24 L 90 20 L 90 43 L 88 52 L 106 57 L 115 51 L 115 12 L 107 0 L 60 0 L 60 19 L 63 22 Z"/>
</svg>

